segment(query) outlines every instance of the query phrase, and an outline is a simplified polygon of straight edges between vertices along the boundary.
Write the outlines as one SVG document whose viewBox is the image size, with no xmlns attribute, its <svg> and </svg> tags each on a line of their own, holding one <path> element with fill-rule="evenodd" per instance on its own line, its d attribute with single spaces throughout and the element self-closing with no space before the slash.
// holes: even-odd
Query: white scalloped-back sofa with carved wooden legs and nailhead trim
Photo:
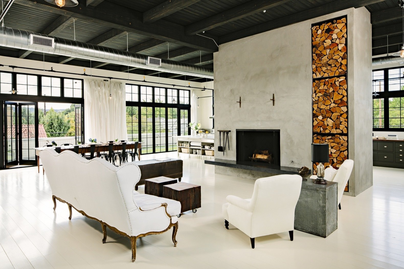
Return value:
<svg viewBox="0 0 404 269">
<path fill-rule="evenodd" d="M 56 153 L 53 149 L 44 149 L 40 158 L 52 189 L 53 209 L 59 200 L 68 205 L 69 219 L 73 207 L 99 221 L 103 243 L 106 227 L 129 237 L 132 261 L 135 261 L 137 238 L 160 234 L 173 227 L 172 239 L 177 246 L 180 202 L 135 191 L 141 172 L 134 162 L 116 167 L 101 158 L 86 160 L 73 151 Z"/>
</svg>

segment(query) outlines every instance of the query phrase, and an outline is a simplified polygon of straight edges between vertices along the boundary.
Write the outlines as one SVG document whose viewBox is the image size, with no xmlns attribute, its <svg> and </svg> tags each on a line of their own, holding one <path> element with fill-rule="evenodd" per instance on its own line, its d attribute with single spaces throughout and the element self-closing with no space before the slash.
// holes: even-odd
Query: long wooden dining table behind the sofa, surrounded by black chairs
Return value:
<svg viewBox="0 0 404 269">
<path fill-rule="evenodd" d="M 139 153 L 139 155 L 138 155 L 139 161 L 140 161 L 142 143 L 143 143 L 143 142 L 139 142 L 139 144 L 137 145 L 137 148 L 138 148 L 138 151 L 137 151 L 137 152 Z M 93 143 L 93 144 L 98 145 L 98 147 L 97 147 L 97 149 L 96 149 L 96 151 L 95 151 L 95 152 L 97 152 L 97 156 L 99 156 L 99 153 L 100 153 L 100 152 L 104 152 L 104 151 L 108 151 L 108 150 L 109 150 L 109 149 L 108 149 L 108 144 L 109 144 L 109 143 L 104 143 L 104 144 L 101 144 L 101 143 Z M 61 151 L 61 152 L 62 152 L 62 151 L 65 151 L 65 150 L 71 150 L 71 151 L 73 151 L 75 146 L 79 146 L 78 154 L 90 153 L 90 145 L 91 145 L 91 144 L 60 146 L 60 147 L 61 147 L 60 151 Z M 49 147 L 34 147 L 34 148 L 33 148 L 33 149 L 35 149 L 35 155 L 38 157 L 38 158 L 37 158 L 38 173 L 39 173 L 39 153 L 40 153 L 42 150 L 47 149 L 47 148 L 49 148 Z M 126 150 L 128 150 L 128 149 L 134 149 L 134 148 L 135 148 L 135 142 L 127 142 Z M 114 147 L 113 147 L 113 150 L 114 150 L 114 151 L 117 151 L 117 150 L 119 150 L 119 149 L 121 149 L 120 145 L 119 145 L 119 144 L 115 144 Z"/>
</svg>

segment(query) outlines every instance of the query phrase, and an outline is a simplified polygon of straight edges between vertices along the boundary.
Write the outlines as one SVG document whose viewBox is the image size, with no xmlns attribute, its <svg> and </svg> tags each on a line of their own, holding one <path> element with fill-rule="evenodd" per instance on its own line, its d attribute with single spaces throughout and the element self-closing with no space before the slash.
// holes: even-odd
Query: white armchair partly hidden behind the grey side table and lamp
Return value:
<svg viewBox="0 0 404 269">
<path fill-rule="evenodd" d="M 327 167 L 324 170 L 324 178 L 327 181 L 338 182 L 337 205 L 339 209 L 341 209 L 342 195 L 344 194 L 345 186 L 347 185 L 349 177 L 351 176 L 352 168 L 353 160 L 347 159 L 341 164 L 338 170 L 335 170 L 332 167 Z M 316 179 L 317 176 L 312 175 L 310 178 Z"/>
</svg>

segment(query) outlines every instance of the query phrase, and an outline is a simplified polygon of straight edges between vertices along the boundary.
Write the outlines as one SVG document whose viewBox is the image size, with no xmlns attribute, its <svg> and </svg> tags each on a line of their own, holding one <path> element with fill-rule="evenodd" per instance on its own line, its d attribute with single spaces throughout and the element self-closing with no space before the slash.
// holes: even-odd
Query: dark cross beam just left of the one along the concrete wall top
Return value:
<svg viewBox="0 0 404 269">
<path fill-rule="evenodd" d="M 213 15 L 212 17 L 197 21 L 185 27 L 185 34 L 194 35 L 206 30 L 219 27 L 231 21 L 242 19 L 249 15 L 289 2 L 290 0 L 252 0 L 240 6 L 230 8 L 227 11 Z"/>
</svg>

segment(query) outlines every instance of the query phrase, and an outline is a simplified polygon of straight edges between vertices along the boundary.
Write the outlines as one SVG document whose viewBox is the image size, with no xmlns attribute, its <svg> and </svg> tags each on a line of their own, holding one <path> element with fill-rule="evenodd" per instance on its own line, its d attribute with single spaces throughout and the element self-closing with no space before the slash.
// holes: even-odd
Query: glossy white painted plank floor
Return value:
<svg viewBox="0 0 404 269">
<path fill-rule="evenodd" d="M 156 156 L 177 153 L 142 160 Z M 221 208 L 229 194 L 250 198 L 254 181 L 215 174 L 198 156 L 179 158 L 183 181 L 202 185 L 202 208 L 179 218 L 176 248 L 171 230 L 137 240 L 135 263 L 128 238 L 108 230 L 102 244 L 98 222 L 74 210 L 69 221 L 67 205 L 59 202 L 54 212 L 42 171 L 0 171 L 0 268 L 404 267 L 404 170 L 374 167 L 373 187 L 343 196 L 338 229 L 327 238 L 295 230 L 293 242 L 285 232 L 257 237 L 252 249 L 247 235 L 231 224 L 225 229 Z"/>
</svg>

